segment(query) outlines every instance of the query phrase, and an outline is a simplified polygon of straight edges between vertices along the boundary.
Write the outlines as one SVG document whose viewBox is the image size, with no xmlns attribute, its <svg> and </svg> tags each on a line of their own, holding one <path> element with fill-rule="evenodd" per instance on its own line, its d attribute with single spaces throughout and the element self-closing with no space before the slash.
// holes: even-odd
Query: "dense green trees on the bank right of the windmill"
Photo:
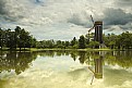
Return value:
<svg viewBox="0 0 132 88">
<path fill-rule="evenodd" d="M 104 36 L 104 43 L 110 49 L 132 49 L 132 33 L 108 34 Z"/>
</svg>

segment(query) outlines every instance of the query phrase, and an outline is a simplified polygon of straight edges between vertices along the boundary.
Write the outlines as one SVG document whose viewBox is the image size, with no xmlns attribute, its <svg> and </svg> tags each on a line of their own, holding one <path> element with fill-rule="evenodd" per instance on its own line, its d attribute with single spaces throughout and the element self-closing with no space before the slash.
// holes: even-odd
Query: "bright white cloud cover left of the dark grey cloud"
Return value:
<svg viewBox="0 0 132 88">
<path fill-rule="evenodd" d="M 104 20 L 115 0 L 0 0 L 0 26 L 20 25 L 37 39 L 72 39 L 86 34 L 92 21 Z M 72 26 L 71 26 L 72 25 Z M 60 34 L 61 33 L 61 34 Z M 72 33 L 72 34 L 71 34 Z"/>
</svg>

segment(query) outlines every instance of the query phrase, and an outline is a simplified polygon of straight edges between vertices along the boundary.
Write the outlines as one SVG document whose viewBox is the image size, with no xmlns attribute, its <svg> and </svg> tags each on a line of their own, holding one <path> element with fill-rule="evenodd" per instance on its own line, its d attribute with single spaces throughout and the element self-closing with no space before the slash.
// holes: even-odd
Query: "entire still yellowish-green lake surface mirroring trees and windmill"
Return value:
<svg viewBox="0 0 132 88">
<path fill-rule="evenodd" d="M 132 51 L 0 52 L 0 88 L 132 88 Z"/>
</svg>

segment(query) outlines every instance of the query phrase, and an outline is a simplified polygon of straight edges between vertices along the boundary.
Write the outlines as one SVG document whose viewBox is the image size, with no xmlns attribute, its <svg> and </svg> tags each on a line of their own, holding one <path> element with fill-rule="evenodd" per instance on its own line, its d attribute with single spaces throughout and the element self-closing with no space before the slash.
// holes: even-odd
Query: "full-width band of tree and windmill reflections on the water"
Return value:
<svg viewBox="0 0 132 88">
<path fill-rule="evenodd" d="M 79 60 L 81 64 L 95 66 L 95 78 L 103 78 L 103 64 L 119 65 L 124 68 L 132 67 L 132 51 L 41 51 L 41 52 L 0 52 L 0 73 L 2 71 L 16 74 L 24 72 L 29 67 L 33 60 L 40 56 L 61 56 L 70 55 L 74 61 Z"/>
</svg>

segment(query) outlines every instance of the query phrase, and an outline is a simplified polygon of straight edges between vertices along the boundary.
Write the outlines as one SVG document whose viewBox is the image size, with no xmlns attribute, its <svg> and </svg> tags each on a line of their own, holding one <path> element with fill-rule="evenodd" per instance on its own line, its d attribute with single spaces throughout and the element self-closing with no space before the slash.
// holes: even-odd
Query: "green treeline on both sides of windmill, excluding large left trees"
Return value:
<svg viewBox="0 0 132 88">
<path fill-rule="evenodd" d="M 120 35 L 108 34 L 103 36 L 104 47 L 110 49 L 132 49 L 132 33 L 125 32 Z M 96 49 L 101 46 L 98 41 L 94 41 L 94 34 L 75 37 L 71 41 L 61 40 L 41 40 L 37 41 L 36 48 L 61 48 L 61 49 Z"/>
</svg>

